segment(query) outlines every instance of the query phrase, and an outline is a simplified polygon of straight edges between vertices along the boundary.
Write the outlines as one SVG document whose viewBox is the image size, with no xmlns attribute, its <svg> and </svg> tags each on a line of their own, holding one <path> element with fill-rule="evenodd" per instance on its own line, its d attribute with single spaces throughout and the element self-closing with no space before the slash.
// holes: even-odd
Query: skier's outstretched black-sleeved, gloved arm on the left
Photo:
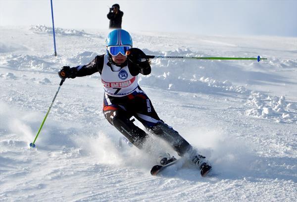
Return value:
<svg viewBox="0 0 297 202">
<path fill-rule="evenodd" d="M 103 68 L 104 54 L 98 55 L 89 64 L 80 65 L 70 68 L 69 66 L 63 66 L 58 72 L 61 78 L 82 77 L 99 72 L 101 74 Z"/>
</svg>

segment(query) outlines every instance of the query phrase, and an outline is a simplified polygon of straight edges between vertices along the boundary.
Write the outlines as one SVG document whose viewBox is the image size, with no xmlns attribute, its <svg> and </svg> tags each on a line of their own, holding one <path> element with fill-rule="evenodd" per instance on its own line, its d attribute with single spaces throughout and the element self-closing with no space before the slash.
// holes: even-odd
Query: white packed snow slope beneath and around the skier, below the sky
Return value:
<svg viewBox="0 0 297 202">
<path fill-rule="evenodd" d="M 159 150 L 129 147 L 102 114 L 100 75 L 67 79 L 45 125 L 63 65 L 105 52 L 108 30 L 0 30 L 0 201 L 294 201 L 297 197 L 297 39 L 132 32 L 154 55 L 267 57 L 264 61 L 153 59 L 140 76 L 161 119 L 213 166 L 149 170 Z M 129 30 L 128 30 L 129 31 Z M 139 123 L 137 123 L 139 124 Z M 142 127 L 141 125 L 139 125 Z M 183 161 L 182 161 L 183 162 Z"/>
</svg>

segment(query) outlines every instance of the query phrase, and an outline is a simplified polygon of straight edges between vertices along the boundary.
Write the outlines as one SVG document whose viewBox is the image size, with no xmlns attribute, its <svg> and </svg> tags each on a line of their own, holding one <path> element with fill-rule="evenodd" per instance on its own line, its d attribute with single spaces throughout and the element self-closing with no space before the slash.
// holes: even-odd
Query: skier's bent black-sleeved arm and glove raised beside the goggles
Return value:
<svg viewBox="0 0 297 202">
<path fill-rule="evenodd" d="M 128 68 L 132 76 L 139 73 L 148 75 L 151 72 L 150 61 L 147 55 L 140 49 L 132 48 L 126 51 Z"/>
</svg>

